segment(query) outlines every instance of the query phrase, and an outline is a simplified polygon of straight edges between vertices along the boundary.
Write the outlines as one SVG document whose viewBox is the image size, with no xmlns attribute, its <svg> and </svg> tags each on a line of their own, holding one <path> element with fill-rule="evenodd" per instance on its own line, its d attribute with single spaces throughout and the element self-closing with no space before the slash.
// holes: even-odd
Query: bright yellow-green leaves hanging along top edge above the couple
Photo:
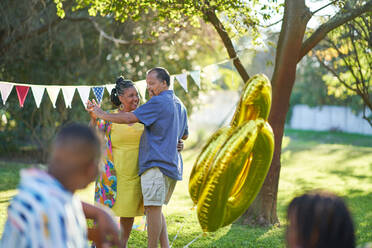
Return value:
<svg viewBox="0 0 372 248">
<path fill-rule="evenodd" d="M 58 15 L 63 18 L 65 10 L 63 4 L 66 0 L 54 0 Z M 139 21 L 143 19 L 143 13 L 152 13 L 152 34 L 157 36 L 164 32 L 174 32 L 178 28 L 188 26 L 200 27 L 200 19 L 208 21 L 207 12 L 213 11 L 221 14 L 221 20 L 225 22 L 225 29 L 233 37 L 241 37 L 248 30 L 252 37 L 257 38 L 258 13 L 265 19 L 269 19 L 274 13 L 279 12 L 279 4 L 276 0 L 259 3 L 258 0 L 75 0 L 73 10 L 88 9 L 91 16 L 114 16 L 115 20 L 125 22 L 127 20 Z M 259 5 L 259 8 L 256 6 Z M 260 9 L 260 11 L 258 11 Z M 161 24 L 166 29 L 157 29 Z"/>
</svg>

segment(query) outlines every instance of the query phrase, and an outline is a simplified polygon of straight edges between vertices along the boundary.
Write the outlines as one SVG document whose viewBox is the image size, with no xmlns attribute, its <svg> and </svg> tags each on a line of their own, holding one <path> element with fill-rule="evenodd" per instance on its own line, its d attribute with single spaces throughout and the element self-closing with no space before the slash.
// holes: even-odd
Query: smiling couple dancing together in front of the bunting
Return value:
<svg viewBox="0 0 372 248">
<path fill-rule="evenodd" d="M 96 181 L 95 200 L 120 217 L 126 247 L 135 216 L 147 217 L 148 247 L 169 247 L 162 206 L 167 204 L 177 180 L 182 180 L 182 140 L 188 137 L 187 113 L 169 90 L 164 68 L 147 72 L 151 97 L 139 106 L 138 90 L 120 77 L 111 92 L 118 108 L 103 111 L 88 101 L 90 124 L 106 136 L 105 169 Z"/>
</svg>

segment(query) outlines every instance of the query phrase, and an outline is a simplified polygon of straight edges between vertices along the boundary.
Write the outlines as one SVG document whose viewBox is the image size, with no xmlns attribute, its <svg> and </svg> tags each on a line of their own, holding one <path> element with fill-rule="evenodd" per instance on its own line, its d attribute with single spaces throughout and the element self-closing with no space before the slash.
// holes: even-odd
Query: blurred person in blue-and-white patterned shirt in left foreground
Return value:
<svg viewBox="0 0 372 248">
<path fill-rule="evenodd" d="M 78 124 L 62 128 L 47 172 L 21 171 L 0 247 L 88 247 L 85 218 L 96 221 L 96 242 L 102 247 L 119 246 L 119 231 L 111 215 L 74 195 L 95 180 L 100 153 L 100 140 L 90 128 Z"/>
</svg>

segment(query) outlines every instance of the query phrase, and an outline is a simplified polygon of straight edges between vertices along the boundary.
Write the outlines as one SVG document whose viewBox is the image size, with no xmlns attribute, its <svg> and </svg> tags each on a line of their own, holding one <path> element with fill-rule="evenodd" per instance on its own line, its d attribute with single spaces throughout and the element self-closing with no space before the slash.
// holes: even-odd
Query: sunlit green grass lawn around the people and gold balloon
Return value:
<svg viewBox="0 0 372 248">
<path fill-rule="evenodd" d="M 190 247 L 285 247 L 285 211 L 290 200 L 307 190 L 327 189 L 342 196 L 355 222 L 357 243 L 372 241 L 372 137 L 333 132 L 287 130 L 283 141 L 279 182 L 278 216 L 281 225 L 252 228 L 230 225 L 201 235 L 195 210 L 188 196 L 188 177 L 200 151 L 183 152 L 184 180 L 177 184 L 173 198 L 164 208 L 169 239 L 173 247 L 183 247 L 200 236 Z M 18 172 L 24 164 L 0 162 L 0 234 L 6 220 L 6 207 L 16 193 Z M 93 199 L 93 185 L 78 192 L 80 198 Z M 133 231 L 130 247 L 146 247 L 146 232 Z"/>
</svg>

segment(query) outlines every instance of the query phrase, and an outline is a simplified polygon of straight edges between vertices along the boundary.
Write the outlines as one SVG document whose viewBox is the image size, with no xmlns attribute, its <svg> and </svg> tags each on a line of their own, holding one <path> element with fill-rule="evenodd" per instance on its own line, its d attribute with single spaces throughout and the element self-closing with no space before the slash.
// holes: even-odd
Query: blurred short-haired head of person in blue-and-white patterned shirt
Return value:
<svg viewBox="0 0 372 248">
<path fill-rule="evenodd" d="M 96 133 L 87 126 L 69 124 L 53 142 L 48 173 L 74 192 L 96 179 L 100 156 L 101 142 Z"/>
</svg>

